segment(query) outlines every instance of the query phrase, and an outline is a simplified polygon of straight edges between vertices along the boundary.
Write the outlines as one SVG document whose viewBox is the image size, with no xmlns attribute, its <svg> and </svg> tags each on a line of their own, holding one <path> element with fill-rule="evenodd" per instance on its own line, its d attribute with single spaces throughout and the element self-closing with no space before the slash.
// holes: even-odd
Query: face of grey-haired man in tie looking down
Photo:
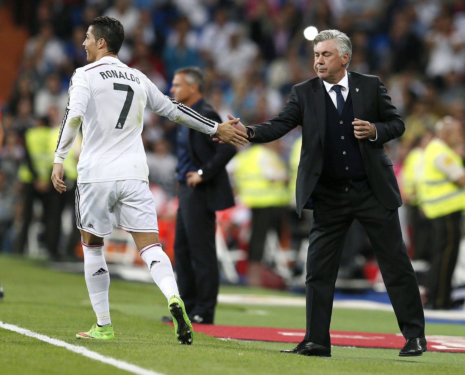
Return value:
<svg viewBox="0 0 465 375">
<path fill-rule="evenodd" d="M 339 56 L 336 42 L 333 39 L 323 40 L 315 46 L 313 69 L 319 78 L 328 83 L 336 84 L 344 77 L 348 59 L 348 53 Z"/>
</svg>

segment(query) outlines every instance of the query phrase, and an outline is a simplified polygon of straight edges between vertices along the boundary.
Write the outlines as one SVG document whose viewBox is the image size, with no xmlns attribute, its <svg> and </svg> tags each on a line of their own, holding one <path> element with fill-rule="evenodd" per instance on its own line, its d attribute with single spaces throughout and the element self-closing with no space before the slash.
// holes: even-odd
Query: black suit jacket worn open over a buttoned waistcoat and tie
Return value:
<svg viewBox="0 0 465 375">
<path fill-rule="evenodd" d="M 368 181 L 379 202 L 387 209 L 394 210 L 402 205 L 402 199 L 392 162 L 383 144 L 404 133 L 404 122 L 379 77 L 357 72 L 349 72 L 348 76 L 355 118 L 373 123 L 378 134 L 376 141 L 359 139 Z M 326 105 L 325 87 L 318 77 L 293 86 L 289 101 L 278 116 L 262 124 L 249 126 L 254 131 L 249 141 L 271 142 L 298 125 L 302 126 L 302 149 L 296 184 L 296 211 L 300 215 L 323 168 Z M 250 133 L 250 130 L 247 132 Z"/>
</svg>

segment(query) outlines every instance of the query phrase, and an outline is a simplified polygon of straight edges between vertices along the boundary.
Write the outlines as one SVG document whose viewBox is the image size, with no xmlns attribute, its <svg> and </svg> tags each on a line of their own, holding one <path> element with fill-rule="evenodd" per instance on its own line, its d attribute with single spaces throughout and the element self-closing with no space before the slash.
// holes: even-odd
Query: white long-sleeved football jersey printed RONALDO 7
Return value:
<svg viewBox="0 0 465 375">
<path fill-rule="evenodd" d="M 82 125 L 78 182 L 148 182 L 142 144 L 144 109 L 207 134 L 218 123 L 159 91 L 143 73 L 114 57 L 76 69 L 55 156 L 66 158 Z"/>
</svg>

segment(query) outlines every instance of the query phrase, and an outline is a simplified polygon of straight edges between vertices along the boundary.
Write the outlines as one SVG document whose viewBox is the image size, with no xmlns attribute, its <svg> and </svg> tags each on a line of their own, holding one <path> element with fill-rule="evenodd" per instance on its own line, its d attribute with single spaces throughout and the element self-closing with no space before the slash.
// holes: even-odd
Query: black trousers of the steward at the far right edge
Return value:
<svg viewBox="0 0 465 375">
<path fill-rule="evenodd" d="M 451 281 L 460 246 L 462 212 L 432 219 L 432 259 L 428 274 L 428 307 L 450 309 Z"/>
</svg>

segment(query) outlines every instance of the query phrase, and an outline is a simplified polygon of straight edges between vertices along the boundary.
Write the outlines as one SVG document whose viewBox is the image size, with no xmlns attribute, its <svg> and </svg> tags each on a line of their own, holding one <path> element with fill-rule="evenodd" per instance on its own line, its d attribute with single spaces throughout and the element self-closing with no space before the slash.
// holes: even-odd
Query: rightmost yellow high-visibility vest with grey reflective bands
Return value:
<svg viewBox="0 0 465 375">
<path fill-rule="evenodd" d="M 445 154 L 450 163 L 463 164 L 462 158 L 440 139 L 434 138 L 426 146 L 419 202 L 425 216 L 430 219 L 465 210 L 465 189 L 451 181 L 434 164 L 440 154 Z"/>
</svg>

